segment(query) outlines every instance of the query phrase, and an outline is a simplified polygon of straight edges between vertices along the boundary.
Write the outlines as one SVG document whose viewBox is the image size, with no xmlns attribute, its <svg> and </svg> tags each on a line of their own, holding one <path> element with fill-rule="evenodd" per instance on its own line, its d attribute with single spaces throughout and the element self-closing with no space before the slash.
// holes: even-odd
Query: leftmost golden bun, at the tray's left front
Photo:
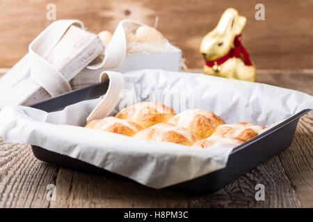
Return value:
<svg viewBox="0 0 313 222">
<path fill-rule="evenodd" d="M 86 128 L 102 130 L 110 133 L 118 133 L 132 137 L 143 128 L 127 119 L 118 119 L 116 117 L 105 117 L 104 119 L 94 119 L 87 124 Z"/>
</svg>

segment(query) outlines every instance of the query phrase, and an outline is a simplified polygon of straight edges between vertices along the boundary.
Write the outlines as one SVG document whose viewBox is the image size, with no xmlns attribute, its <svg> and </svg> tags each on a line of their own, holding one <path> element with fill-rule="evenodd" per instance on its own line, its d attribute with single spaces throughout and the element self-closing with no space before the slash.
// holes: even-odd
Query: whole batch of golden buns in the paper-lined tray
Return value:
<svg viewBox="0 0 313 222">
<path fill-rule="evenodd" d="M 242 144 L 259 135 L 265 127 L 252 123 L 226 124 L 206 110 L 175 114 L 172 108 L 162 103 L 141 102 L 122 109 L 115 117 L 94 119 L 86 128 L 152 142 L 209 148 L 214 144 Z"/>
</svg>

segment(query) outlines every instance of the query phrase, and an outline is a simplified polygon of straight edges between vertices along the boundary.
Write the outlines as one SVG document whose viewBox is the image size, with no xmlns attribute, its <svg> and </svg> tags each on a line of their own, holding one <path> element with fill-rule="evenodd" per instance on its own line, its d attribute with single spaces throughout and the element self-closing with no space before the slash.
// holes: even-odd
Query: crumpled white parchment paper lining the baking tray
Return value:
<svg viewBox="0 0 313 222">
<path fill-rule="evenodd" d="M 197 108 L 216 113 L 226 123 L 272 126 L 313 108 L 308 94 L 261 83 L 152 69 L 124 77 L 125 90 L 110 115 L 139 101 L 159 101 L 175 112 Z M 82 101 L 51 113 L 6 107 L 0 112 L 0 136 L 6 142 L 42 146 L 158 189 L 226 166 L 231 146 L 193 148 L 81 127 L 99 101 Z"/>
</svg>

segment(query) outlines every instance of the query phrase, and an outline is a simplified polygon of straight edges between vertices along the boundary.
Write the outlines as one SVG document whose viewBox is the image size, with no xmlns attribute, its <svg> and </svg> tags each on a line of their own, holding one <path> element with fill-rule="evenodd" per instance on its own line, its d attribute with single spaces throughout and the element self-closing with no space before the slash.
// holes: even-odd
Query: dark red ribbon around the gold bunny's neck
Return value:
<svg viewBox="0 0 313 222">
<path fill-rule="evenodd" d="M 223 64 L 230 58 L 240 58 L 242 55 L 241 58 L 243 59 L 243 62 L 245 62 L 245 65 L 252 65 L 249 53 L 241 44 L 240 38 L 241 38 L 241 34 L 236 35 L 236 37 L 234 38 L 234 49 L 230 49 L 230 51 L 225 56 L 223 56 L 222 58 L 219 58 L 218 60 L 207 61 L 205 62 L 205 64 L 208 67 L 213 67 L 214 65 Z"/>
</svg>

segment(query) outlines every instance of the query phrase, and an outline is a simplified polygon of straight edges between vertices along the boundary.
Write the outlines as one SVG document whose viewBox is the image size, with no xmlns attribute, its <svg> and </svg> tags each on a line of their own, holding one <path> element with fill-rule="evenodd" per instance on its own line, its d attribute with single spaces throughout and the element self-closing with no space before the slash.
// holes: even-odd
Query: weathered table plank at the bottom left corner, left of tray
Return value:
<svg viewBox="0 0 313 222">
<path fill-rule="evenodd" d="M 38 161 L 28 145 L 0 142 L 0 208 L 49 207 L 46 188 L 57 169 Z"/>
</svg>

